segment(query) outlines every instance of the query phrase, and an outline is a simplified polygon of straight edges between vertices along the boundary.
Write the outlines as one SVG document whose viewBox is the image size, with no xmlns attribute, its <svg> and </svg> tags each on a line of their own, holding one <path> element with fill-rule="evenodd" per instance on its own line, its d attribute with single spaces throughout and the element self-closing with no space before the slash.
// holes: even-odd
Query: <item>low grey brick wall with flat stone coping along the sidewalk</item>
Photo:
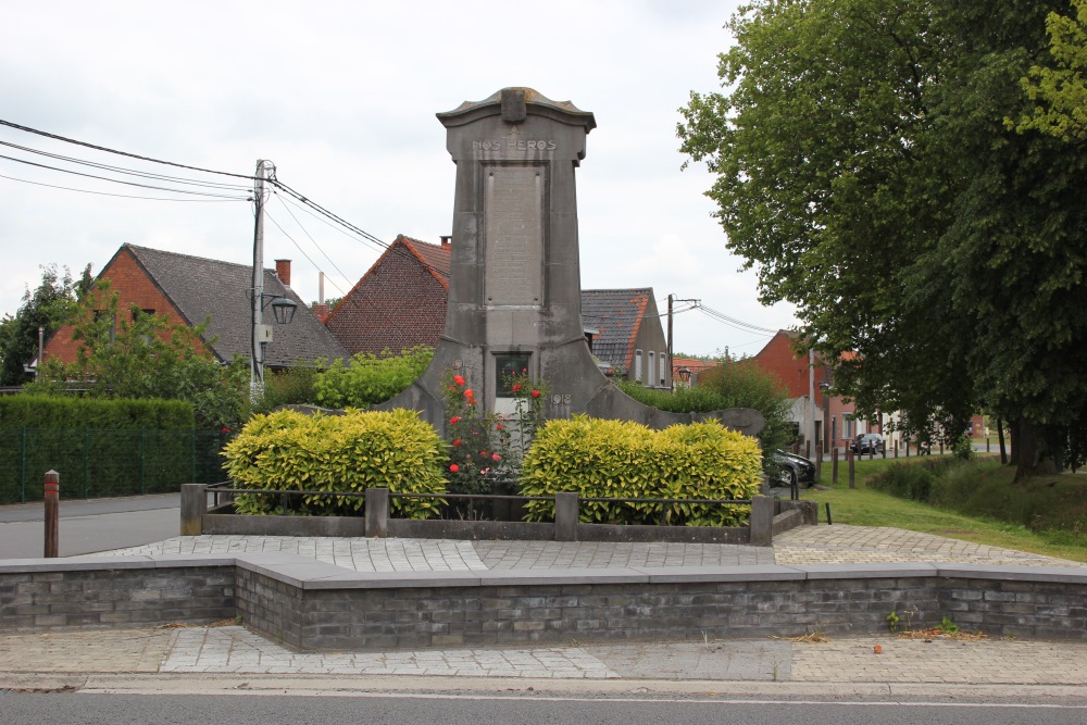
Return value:
<svg viewBox="0 0 1087 725">
<path fill-rule="evenodd" d="M 293 554 L 0 564 L 0 630 L 242 623 L 300 650 L 887 630 L 1087 640 L 1087 571 L 885 564 L 363 573 Z M 911 612 L 908 617 L 907 612 Z"/>
</svg>

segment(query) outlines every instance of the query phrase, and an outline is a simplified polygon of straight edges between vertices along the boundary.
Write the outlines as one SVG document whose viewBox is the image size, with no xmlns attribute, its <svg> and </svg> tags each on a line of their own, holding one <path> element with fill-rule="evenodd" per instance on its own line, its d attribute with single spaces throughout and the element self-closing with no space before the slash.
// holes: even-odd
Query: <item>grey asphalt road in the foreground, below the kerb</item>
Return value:
<svg viewBox="0 0 1087 725">
<path fill-rule="evenodd" d="M 719 725 L 1065 725 L 1087 718 L 1087 705 L 1047 701 L 917 702 L 776 700 L 714 697 L 597 698 L 592 696 L 361 693 L 354 697 L 297 695 L 0 695 L 0 721 L 26 725 L 232 723 L 290 725 L 328 723 L 605 723 Z"/>
</svg>

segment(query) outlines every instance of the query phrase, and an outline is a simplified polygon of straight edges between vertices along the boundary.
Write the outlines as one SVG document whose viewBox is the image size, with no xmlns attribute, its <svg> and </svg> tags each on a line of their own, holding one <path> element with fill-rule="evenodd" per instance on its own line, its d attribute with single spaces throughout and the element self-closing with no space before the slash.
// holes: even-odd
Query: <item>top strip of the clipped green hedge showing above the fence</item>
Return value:
<svg viewBox="0 0 1087 725">
<path fill-rule="evenodd" d="M 0 397 L 0 430 L 191 430 L 195 427 L 192 403 L 183 400 L 110 400 L 23 395 Z"/>
</svg>

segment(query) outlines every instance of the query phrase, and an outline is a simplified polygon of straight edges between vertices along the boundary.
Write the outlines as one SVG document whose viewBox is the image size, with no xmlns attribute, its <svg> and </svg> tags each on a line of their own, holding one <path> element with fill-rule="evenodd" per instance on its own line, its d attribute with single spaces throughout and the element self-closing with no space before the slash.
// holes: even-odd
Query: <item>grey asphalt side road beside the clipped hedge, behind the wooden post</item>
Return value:
<svg viewBox="0 0 1087 725">
<path fill-rule="evenodd" d="M 177 493 L 91 501 L 62 499 L 60 554 L 75 557 L 141 546 L 177 536 L 179 528 Z M 37 559 L 43 553 L 43 504 L 39 501 L 0 507 L 0 559 Z"/>
</svg>

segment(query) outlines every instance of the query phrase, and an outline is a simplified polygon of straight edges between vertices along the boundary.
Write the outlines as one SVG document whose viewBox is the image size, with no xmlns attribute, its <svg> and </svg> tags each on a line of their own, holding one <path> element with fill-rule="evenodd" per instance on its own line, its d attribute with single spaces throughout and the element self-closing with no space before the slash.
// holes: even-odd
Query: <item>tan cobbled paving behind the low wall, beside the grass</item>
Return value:
<svg viewBox="0 0 1087 725">
<path fill-rule="evenodd" d="M 1001 549 L 934 534 L 884 526 L 801 526 L 774 537 L 778 564 L 878 564 L 927 562 L 1087 566 L 1083 562 Z"/>
</svg>

